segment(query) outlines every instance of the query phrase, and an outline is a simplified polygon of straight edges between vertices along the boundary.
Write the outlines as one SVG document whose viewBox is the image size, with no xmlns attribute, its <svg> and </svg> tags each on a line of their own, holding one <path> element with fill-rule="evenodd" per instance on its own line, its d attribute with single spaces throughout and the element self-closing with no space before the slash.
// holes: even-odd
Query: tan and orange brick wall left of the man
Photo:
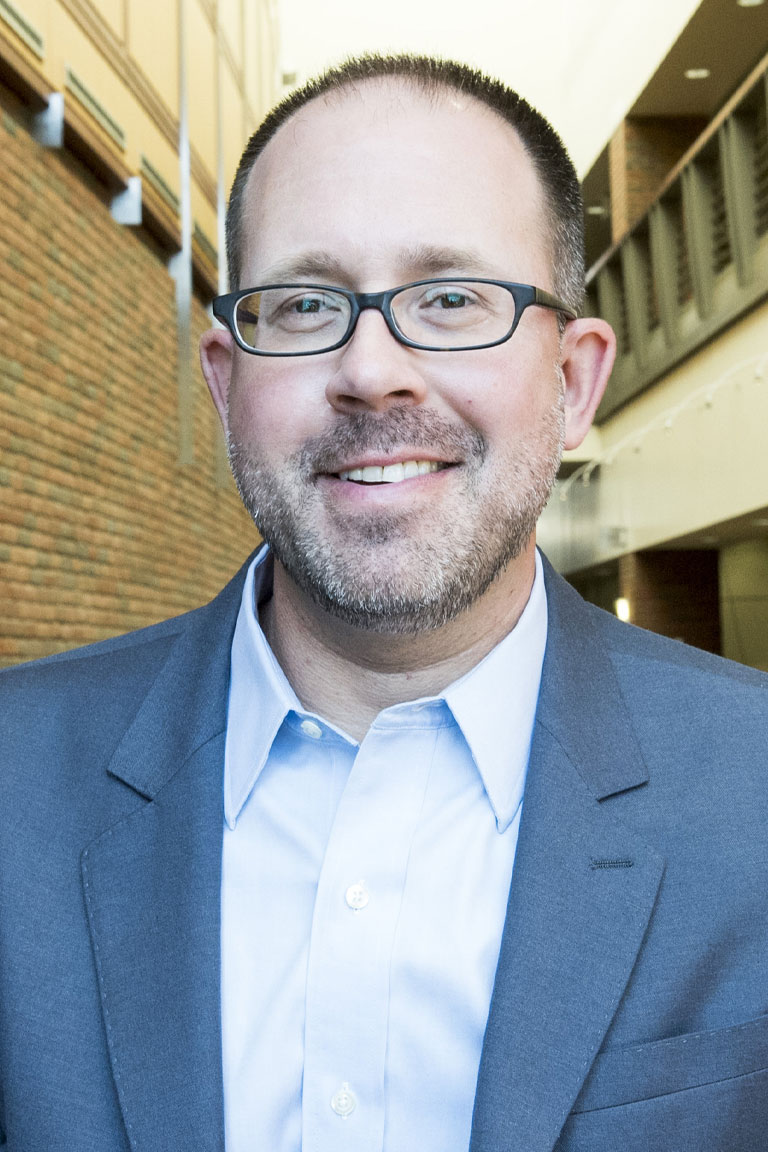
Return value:
<svg viewBox="0 0 768 1152">
<path fill-rule="evenodd" d="M 210 599 L 257 541 L 196 365 L 177 452 L 174 285 L 66 150 L 0 107 L 0 664 Z M 207 326 L 196 303 L 193 327 Z"/>
</svg>

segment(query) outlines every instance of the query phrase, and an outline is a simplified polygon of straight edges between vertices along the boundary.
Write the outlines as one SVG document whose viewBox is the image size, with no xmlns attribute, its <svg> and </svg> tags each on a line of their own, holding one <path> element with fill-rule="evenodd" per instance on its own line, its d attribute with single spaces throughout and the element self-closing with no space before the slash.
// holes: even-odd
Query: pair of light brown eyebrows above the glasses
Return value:
<svg viewBox="0 0 768 1152">
<path fill-rule="evenodd" d="M 466 276 L 497 276 L 499 268 L 492 267 L 479 252 L 467 248 L 450 248 L 436 244 L 417 244 L 403 249 L 397 255 L 398 273 L 403 281 L 421 280 L 457 273 Z M 303 252 L 301 256 L 279 260 L 260 273 L 263 283 L 319 281 L 321 283 L 351 286 L 353 276 L 339 257 L 321 249 Z"/>
</svg>

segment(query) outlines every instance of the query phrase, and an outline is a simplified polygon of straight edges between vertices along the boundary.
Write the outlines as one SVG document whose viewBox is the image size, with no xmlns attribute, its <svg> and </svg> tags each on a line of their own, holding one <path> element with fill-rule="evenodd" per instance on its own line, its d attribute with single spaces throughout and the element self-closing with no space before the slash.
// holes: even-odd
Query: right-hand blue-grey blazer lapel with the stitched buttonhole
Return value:
<svg viewBox="0 0 768 1152">
<path fill-rule="evenodd" d="M 607 796 L 647 781 L 580 599 L 547 570 L 549 635 L 471 1152 L 552 1152 L 632 972 L 662 858 Z"/>
</svg>

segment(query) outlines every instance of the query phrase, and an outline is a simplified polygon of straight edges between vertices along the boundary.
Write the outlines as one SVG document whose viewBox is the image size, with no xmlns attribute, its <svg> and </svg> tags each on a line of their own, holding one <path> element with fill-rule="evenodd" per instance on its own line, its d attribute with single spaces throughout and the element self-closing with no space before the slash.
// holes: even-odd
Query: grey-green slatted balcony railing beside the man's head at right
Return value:
<svg viewBox="0 0 768 1152">
<path fill-rule="evenodd" d="M 604 420 L 768 297 L 768 62 L 590 270 L 587 306 L 616 331 Z M 768 334 L 767 334 L 768 342 Z"/>
</svg>

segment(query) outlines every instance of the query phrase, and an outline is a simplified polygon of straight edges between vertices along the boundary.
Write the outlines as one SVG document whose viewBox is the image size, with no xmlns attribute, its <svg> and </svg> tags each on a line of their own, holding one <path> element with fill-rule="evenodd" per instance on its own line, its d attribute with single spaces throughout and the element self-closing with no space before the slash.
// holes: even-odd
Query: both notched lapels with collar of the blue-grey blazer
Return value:
<svg viewBox="0 0 768 1152">
<path fill-rule="evenodd" d="M 545 566 L 549 630 L 471 1152 L 552 1152 L 629 980 L 663 862 L 602 803 L 647 771 L 592 612 Z M 151 803 L 83 854 L 135 1147 L 223 1149 L 222 763 L 245 568 L 176 641 L 109 772 Z"/>
</svg>

